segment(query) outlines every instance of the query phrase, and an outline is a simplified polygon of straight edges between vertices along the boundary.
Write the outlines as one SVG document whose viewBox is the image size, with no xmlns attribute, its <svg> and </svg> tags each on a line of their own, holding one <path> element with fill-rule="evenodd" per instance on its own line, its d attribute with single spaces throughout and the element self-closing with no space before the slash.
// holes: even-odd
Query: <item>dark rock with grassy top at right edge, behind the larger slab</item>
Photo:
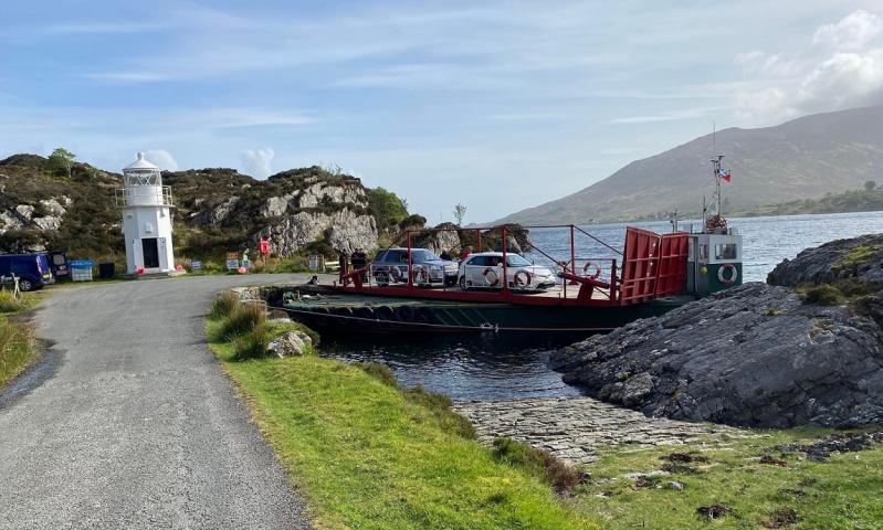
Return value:
<svg viewBox="0 0 883 530">
<path fill-rule="evenodd" d="M 785 259 L 767 276 L 770 285 L 796 287 L 826 284 L 854 277 L 861 282 L 883 282 L 883 234 L 838 240 L 807 248 L 793 259 Z"/>
</svg>

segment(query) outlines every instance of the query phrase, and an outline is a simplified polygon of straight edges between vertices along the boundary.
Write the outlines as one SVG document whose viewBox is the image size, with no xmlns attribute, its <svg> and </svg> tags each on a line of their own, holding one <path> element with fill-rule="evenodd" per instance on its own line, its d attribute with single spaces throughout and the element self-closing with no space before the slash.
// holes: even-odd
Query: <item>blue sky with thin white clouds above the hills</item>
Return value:
<svg viewBox="0 0 883 530">
<path fill-rule="evenodd" d="M 578 191 L 712 120 L 883 103 L 877 1 L 4 3 L 0 157 L 337 165 L 431 222 Z"/>
</svg>

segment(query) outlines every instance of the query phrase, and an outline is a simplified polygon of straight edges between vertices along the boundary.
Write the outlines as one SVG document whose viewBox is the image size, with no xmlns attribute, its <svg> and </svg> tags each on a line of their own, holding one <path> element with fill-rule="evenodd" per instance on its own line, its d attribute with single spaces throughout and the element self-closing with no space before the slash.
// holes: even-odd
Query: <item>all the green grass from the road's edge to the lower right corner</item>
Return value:
<svg viewBox="0 0 883 530">
<path fill-rule="evenodd" d="M 274 337 L 296 325 L 257 326 Z M 209 321 L 211 348 L 317 528 L 883 528 L 883 444 L 818 463 L 777 446 L 831 430 L 745 431 L 680 446 L 608 447 L 580 477 L 508 438 L 480 445 L 448 398 L 402 389 L 381 364 L 314 354 L 238 360 L 222 327 Z M 665 473 L 627 476 L 652 471 Z"/>
</svg>

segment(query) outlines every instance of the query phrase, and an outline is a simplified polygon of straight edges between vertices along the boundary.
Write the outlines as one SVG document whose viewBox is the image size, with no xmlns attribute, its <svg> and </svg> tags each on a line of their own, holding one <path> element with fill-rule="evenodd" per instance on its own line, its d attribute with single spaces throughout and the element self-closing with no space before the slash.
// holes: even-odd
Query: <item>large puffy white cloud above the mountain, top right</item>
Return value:
<svg viewBox="0 0 883 530">
<path fill-rule="evenodd" d="M 818 28 L 799 56 L 750 51 L 736 64 L 751 80 L 734 96 L 736 114 L 772 124 L 802 114 L 883 103 L 883 19 L 864 10 Z M 759 86 L 758 86 L 759 85 Z"/>
</svg>

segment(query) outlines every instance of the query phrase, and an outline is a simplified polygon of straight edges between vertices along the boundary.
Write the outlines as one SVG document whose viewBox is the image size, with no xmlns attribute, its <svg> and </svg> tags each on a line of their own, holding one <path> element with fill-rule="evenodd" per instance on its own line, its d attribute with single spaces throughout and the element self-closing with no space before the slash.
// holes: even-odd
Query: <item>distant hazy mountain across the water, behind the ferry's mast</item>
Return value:
<svg viewBox="0 0 883 530">
<path fill-rule="evenodd" d="M 805 116 L 776 127 L 729 128 L 717 153 L 733 181 L 727 210 L 821 198 L 883 180 L 883 106 Z M 529 208 L 497 223 L 623 221 L 701 209 L 711 195 L 711 135 L 637 160 L 571 195 Z"/>
</svg>

